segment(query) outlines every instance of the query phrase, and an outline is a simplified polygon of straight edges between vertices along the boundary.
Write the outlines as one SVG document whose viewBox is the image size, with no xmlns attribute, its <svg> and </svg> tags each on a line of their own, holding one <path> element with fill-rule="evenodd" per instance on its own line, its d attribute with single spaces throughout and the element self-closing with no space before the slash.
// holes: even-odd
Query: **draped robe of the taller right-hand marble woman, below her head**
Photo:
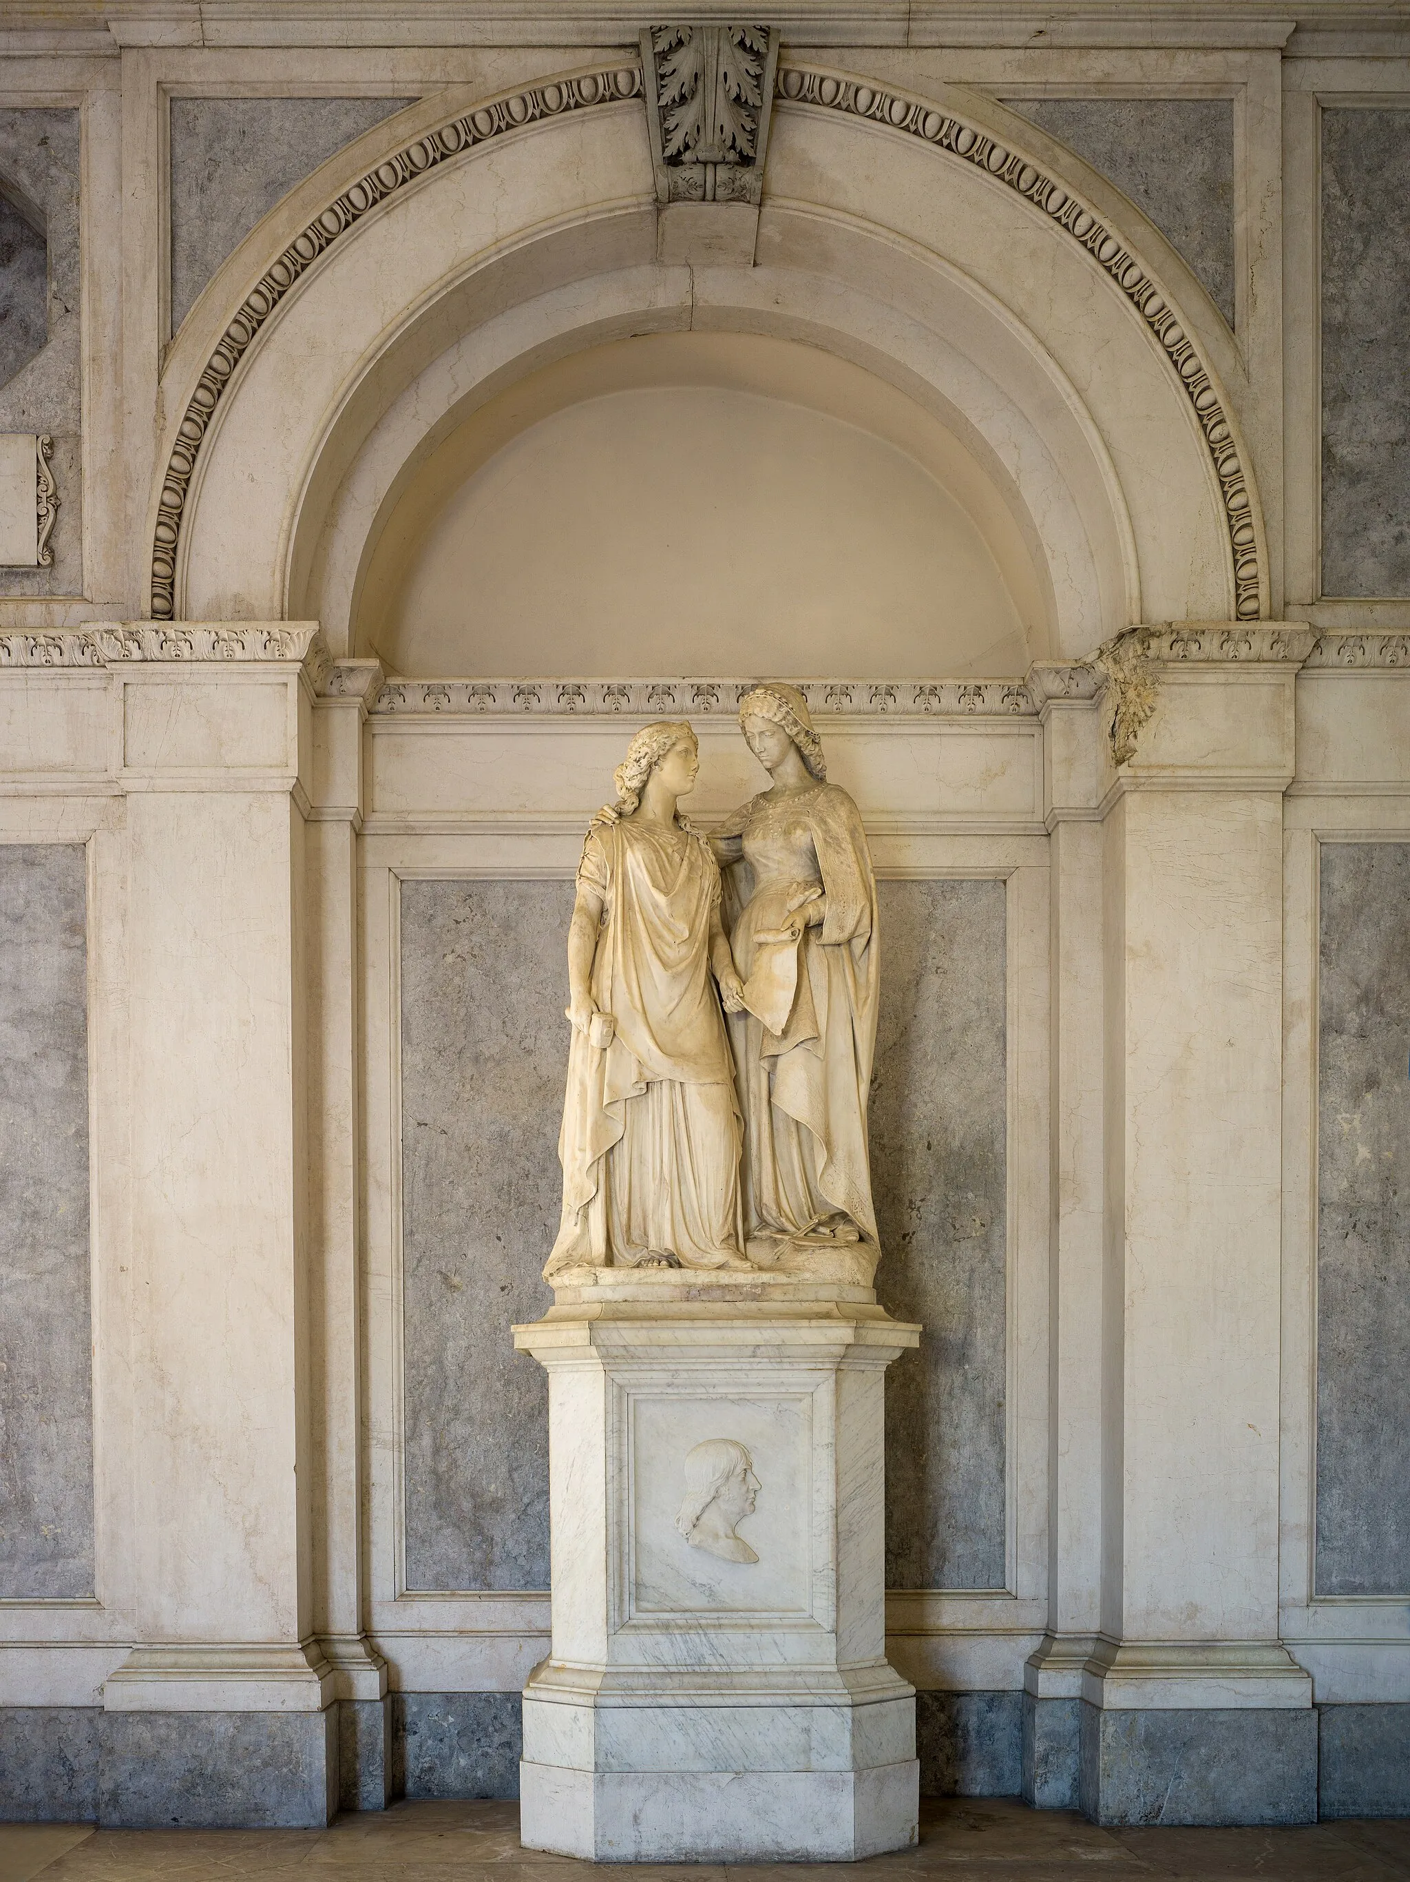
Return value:
<svg viewBox="0 0 1410 1882">
<path fill-rule="evenodd" d="M 857 805 L 835 785 L 752 798 L 716 836 L 743 837 L 728 871 L 735 965 L 758 1011 L 729 1016 L 744 1114 L 744 1233 L 805 1236 L 846 1218 L 876 1246 L 867 1093 L 876 1052 L 876 879 Z M 820 881 L 822 926 L 793 947 L 756 941 L 790 890 Z M 791 958 L 790 958 L 791 956 Z"/>
</svg>

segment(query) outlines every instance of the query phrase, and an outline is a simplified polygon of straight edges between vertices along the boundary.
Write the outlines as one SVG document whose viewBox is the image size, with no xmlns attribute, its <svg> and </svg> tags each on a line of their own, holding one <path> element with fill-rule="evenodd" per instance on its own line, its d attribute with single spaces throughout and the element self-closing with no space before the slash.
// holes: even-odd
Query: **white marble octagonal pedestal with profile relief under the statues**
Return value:
<svg viewBox="0 0 1410 1882">
<path fill-rule="evenodd" d="M 882 1391 L 917 1340 L 869 1287 L 677 1270 L 577 1270 L 515 1327 L 549 1374 L 553 1504 L 528 1848 L 848 1861 L 916 1842 L 916 1692 L 885 1662 Z M 692 1526 L 709 1466 L 735 1474 Z"/>
</svg>

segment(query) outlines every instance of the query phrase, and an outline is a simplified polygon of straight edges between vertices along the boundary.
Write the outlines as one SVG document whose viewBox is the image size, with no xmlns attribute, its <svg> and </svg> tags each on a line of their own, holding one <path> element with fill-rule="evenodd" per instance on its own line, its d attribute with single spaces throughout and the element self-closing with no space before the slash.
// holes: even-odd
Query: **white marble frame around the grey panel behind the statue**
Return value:
<svg viewBox="0 0 1410 1882">
<path fill-rule="evenodd" d="M 1040 753 L 1042 762 L 1042 753 Z M 523 828 L 370 828 L 363 873 L 363 1129 L 368 1404 L 368 1634 L 400 1690 L 517 1690 L 549 1645 L 541 1592 L 406 1588 L 400 1481 L 400 883 L 568 881 L 581 817 Z M 931 1690 L 1021 1690 L 1047 1626 L 1049 841 L 904 828 L 878 877 L 1002 879 L 1008 917 L 1006 1587 L 887 1596 L 887 1654 Z"/>
</svg>

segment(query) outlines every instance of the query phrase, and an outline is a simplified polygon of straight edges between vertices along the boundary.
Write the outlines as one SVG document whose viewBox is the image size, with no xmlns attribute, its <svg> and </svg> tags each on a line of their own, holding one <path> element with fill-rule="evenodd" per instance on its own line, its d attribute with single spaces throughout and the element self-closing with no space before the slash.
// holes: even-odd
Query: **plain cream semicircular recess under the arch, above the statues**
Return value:
<svg viewBox="0 0 1410 1882">
<path fill-rule="evenodd" d="M 897 388 L 656 333 L 440 440 L 367 551 L 355 646 L 408 676 L 1006 676 L 1047 653 L 1049 595 L 998 480 Z"/>
</svg>

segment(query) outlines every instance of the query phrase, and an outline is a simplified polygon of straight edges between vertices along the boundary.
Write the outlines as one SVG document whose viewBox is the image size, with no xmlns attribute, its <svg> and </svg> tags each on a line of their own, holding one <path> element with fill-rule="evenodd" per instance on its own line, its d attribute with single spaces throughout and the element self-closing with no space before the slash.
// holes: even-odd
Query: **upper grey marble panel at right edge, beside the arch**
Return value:
<svg viewBox="0 0 1410 1882">
<path fill-rule="evenodd" d="M 1322 593 L 1410 595 L 1410 111 L 1322 113 Z"/>
</svg>

